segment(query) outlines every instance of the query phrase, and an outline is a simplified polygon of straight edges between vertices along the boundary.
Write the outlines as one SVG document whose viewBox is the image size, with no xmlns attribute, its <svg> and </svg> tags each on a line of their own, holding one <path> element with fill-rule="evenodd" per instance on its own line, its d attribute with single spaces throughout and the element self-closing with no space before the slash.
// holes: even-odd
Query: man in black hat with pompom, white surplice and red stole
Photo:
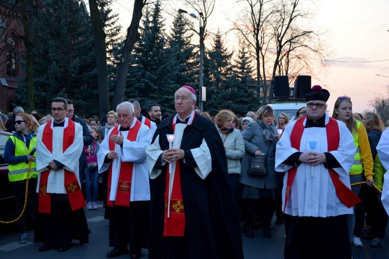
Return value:
<svg viewBox="0 0 389 259">
<path fill-rule="evenodd" d="M 307 116 L 286 126 L 276 149 L 284 177 L 285 258 L 351 258 L 346 214 L 360 199 L 348 172 L 355 146 L 346 125 L 325 112 L 330 93 L 305 94 Z"/>
</svg>

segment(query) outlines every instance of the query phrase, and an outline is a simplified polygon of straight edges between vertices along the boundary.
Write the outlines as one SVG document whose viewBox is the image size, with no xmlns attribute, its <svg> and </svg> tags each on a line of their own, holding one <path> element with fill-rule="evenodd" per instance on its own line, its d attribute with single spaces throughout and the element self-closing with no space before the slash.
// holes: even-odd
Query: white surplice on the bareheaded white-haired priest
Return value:
<svg viewBox="0 0 389 259">
<path fill-rule="evenodd" d="M 135 126 L 136 118 L 132 122 L 130 128 Z M 120 145 L 115 144 L 115 151 L 117 157 L 109 163 L 104 164 L 104 159 L 109 153 L 109 136 L 113 128 L 108 132 L 108 138 L 104 138 L 99 147 L 97 153 L 97 164 L 99 166 L 99 173 L 103 173 L 108 170 L 112 163 L 112 181 L 111 192 L 109 193 L 109 200 L 116 200 L 117 183 L 119 179 L 119 172 L 121 170 L 121 161 L 134 162 L 131 179 L 131 193 L 130 202 L 133 201 L 149 201 L 150 200 L 150 185 L 148 180 L 148 165 L 146 159 L 145 148 L 150 145 L 152 140 L 151 130 L 144 124 L 141 124 L 139 132 L 136 136 L 136 141 L 129 141 L 127 139 L 129 131 L 120 131 L 122 133 L 124 141 L 123 148 Z M 126 173 L 126 172 L 124 172 Z"/>
</svg>

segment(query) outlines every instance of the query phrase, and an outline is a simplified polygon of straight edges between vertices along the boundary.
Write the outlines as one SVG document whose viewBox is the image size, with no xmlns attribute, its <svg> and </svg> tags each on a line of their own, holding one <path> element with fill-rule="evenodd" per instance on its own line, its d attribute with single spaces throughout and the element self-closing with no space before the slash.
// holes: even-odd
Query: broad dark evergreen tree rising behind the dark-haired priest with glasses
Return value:
<svg viewBox="0 0 389 259">
<path fill-rule="evenodd" d="M 36 109 L 46 113 L 54 97 L 65 96 L 75 103 L 77 114 L 96 114 L 96 62 L 86 9 L 74 0 L 44 1 L 44 6 L 34 48 Z"/>
</svg>

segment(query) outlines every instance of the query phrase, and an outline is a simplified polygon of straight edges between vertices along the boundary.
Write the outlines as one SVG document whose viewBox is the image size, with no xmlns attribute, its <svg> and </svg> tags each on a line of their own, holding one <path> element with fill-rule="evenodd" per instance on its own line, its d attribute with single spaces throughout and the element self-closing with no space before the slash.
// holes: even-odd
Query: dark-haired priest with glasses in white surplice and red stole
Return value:
<svg viewBox="0 0 389 259">
<path fill-rule="evenodd" d="M 37 138 L 38 218 L 34 242 L 40 252 L 70 249 L 73 239 L 88 243 L 88 228 L 80 188 L 78 158 L 83 149 L 82 126 L 66 118 L 68 102 L 51 102 L 53 119 L 41 125 Z"/>
</svg>

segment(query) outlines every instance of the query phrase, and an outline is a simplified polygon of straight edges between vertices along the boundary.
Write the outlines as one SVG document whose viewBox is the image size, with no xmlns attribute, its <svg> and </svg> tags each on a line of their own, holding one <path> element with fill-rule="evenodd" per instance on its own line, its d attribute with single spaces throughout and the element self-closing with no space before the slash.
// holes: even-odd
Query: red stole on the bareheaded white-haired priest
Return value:
<svg viewBox="0 0 389 259">
<path fill-rule="evenodd" d="M 139 120 L 136 120 L 135 125 L 130 128 L 127 139 L 129 141 L 136 141 L 136 136 L 138 135 L 139 128 L 142 123 Z M 109 137 L 112 135 L 118 135 L 119 125 L 116 125 Z M 115 143 L 113 143 L 111 140 L 109 140 L 109 150 L 114 151 L 115 150 Z M 132 171 L 134 168 L 134 162 L 123 162 L 121 161 L 120 164 L 120 172 L 119 172 L 119 179 L 117 182 L 117 190 L 116 190 L 116 199 L 115 199 L 115 206 L 124 206 L 124 207 L 130 207 L 130 194 L 131 194 L 131 180 L 132 180 Z M 109 196 L 111 193 L 111 182 L 112 182 L 112 163 L 109 165 L 108 169 L 108 188 L 107 188 L 107 206 L 113 206 L 113 202 L 109 200 Z"/>
</svg>

